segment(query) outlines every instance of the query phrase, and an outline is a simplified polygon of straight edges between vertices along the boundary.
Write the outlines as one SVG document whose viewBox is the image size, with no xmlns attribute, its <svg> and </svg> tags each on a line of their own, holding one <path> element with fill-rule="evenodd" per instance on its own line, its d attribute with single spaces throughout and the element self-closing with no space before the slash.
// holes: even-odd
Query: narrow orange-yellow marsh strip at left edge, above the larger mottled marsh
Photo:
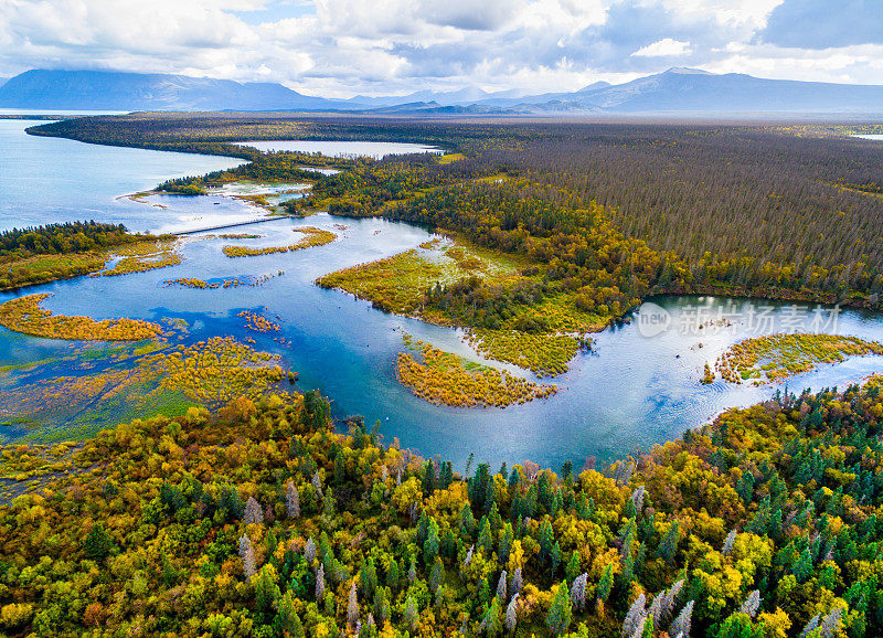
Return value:
<svg viewBox="0 0 883 638">
<path fill-rule="evenodd" d="M 28 295 L 0 305 L 0 326 L 34 337 L 79 341 L 140 341 L 162 332 L 157 323 L 140 319 L 96 321 L 91 317 L 53 315 L 51 310 L 40 307 L 40 302 L 47 297 L 45 293 Z"/>
</svg>

